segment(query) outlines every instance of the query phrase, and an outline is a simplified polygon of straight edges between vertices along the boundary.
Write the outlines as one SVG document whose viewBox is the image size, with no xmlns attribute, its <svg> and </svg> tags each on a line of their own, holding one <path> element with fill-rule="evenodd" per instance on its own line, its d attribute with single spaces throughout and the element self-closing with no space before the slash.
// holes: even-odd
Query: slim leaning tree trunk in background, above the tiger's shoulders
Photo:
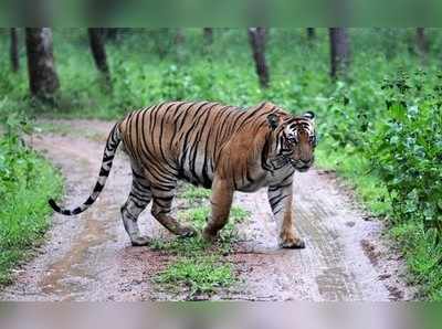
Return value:
<svg viewBox="0 0 442 329">
<path fill-rule="evenodd" d="M 262 88 L 267 88 L 270 84 L 269 67 L 265 61 L 265 29 L 249 29 L 249 41 L 252 46 L 253 60 L 255 61 L 256 74 L 260 78 Z"/>
</svg>

